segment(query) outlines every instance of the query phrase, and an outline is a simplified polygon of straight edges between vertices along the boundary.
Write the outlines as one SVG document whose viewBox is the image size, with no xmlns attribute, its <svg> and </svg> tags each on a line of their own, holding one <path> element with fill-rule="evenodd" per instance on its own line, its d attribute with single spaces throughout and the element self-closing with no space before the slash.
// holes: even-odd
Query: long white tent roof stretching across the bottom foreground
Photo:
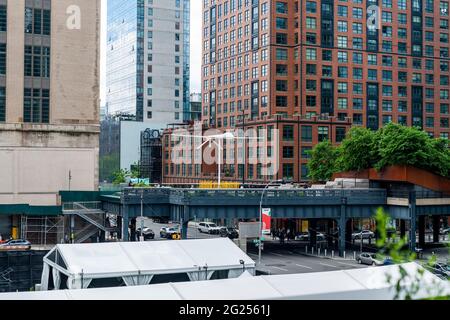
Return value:
<svg viewBox="0 0 450 320">
<path fill-rule="evenodd" d="M 423 270 L 416 263 L 404 264 L 403 268 L 411 278 L 415 278 L 419 269 Z M 395 285 L 387 283 L 388 275 L 398 279 L 399 266 L 149 286 L 6 293 L 0 294 L 0 300 L 389 300 L 395 296 Z M 408 288 L 411 283 L 402 284 Z M 449 282 L 429 271 L 424 272 L 420 288 L 413 298 L 450 294 Z"/>
</svg>

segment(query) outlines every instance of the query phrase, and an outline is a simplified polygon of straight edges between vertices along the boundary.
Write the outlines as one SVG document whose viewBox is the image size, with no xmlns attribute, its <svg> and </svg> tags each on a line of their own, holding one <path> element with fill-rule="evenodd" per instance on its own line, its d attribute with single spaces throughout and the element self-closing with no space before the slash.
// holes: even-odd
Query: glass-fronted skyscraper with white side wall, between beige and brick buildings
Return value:
<svg viewBox="0 0 450 320">
<path fill-rule="evenodd" d="M 165 126 L 189 116 L 189 0 L 108 0 L 112 114 Z"/>
</svg>

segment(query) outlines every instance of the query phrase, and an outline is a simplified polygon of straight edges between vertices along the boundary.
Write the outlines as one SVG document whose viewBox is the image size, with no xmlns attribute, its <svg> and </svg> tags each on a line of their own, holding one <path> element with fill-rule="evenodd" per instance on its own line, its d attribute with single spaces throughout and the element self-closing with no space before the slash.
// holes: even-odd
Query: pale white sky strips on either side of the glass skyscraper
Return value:
<svg viewBox="0 0 450 320">
<path fill-rule="evenodd" d="M 123 0 L 127 1 L 127 0 Z M 106 13 L 107 0 L 102 0 L 100 98 L 106 103 Z M 201 90 L 202 0 L 191 0 L 191 93 Z"/>
</svg>

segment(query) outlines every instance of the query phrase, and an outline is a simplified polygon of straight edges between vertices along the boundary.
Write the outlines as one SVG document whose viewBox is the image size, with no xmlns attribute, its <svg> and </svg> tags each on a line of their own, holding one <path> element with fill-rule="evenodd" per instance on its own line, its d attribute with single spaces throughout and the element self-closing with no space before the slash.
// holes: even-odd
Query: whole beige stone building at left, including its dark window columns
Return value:
<svg viewBox="0 0 450 320">
<path fill-rule="evenodd" d="M 0 219 L 97 188 L 99 39 L 100 0 L 0 0 Z"/>
</svg>

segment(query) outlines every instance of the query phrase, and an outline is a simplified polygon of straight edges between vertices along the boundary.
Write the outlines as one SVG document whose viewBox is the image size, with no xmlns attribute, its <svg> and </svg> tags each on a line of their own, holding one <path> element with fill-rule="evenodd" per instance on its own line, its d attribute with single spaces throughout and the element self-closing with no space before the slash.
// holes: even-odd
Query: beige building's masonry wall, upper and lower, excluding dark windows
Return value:
<svg viewBox="0 0 450 320">
<path fill-rule="evenodd" d="M 23 123 L 25 0 L 7 3 L 0 204 L 57 205 L 69 171 L 72 190 L 98 187 L 100 0 L 51 3 L 49 124 Z"/>
</svg>

